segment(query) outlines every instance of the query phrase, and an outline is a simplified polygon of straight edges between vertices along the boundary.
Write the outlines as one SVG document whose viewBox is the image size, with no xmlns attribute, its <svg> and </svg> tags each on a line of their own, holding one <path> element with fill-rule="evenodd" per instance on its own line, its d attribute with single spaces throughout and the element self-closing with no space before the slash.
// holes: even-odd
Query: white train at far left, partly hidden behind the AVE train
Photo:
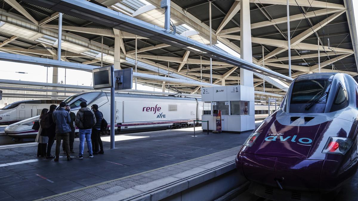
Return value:
<svg viewBox="0 0 358 201">
<path fill-rule="evenodd" d="M 58 105 L 61 100 L 21 100 L 0 109 L 0 125 L 9 125 L 38 116 L 43 108 Z"/>
</svg>

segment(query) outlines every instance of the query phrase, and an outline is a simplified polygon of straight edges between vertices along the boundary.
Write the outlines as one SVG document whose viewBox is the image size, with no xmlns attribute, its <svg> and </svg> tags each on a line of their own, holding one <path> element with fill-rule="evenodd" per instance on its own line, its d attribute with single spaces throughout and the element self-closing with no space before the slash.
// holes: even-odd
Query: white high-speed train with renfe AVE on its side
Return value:
<svg viewBox="0 0 358 201">
<path fill-rule="evenodd" d="M 74 113 L 77 113 L 83 101 L 89 108 L 97 104 L 98 110 L 110 123 L 109 100 L 110 93 L 87 92 L 72 95 L 64 102 L 71 106 Z M 200 98 L 116 93 L 116 129 L 117 132 L 126 132 L 180 127 L 201 119 L 202 108 Z M 5 128 L 5 133 L 15 139 L 34 138 L 37 131 L 32 130 L 32 126 L 38 118 L 36 116 L 11 124 Z"/>
</svg>

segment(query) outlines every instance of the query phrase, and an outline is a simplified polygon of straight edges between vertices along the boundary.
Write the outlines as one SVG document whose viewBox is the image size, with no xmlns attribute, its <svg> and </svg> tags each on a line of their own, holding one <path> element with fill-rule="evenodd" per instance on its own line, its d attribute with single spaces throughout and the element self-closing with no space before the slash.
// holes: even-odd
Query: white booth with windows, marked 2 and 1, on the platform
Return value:
<svg viewBox="0 0 358 201">
<path fill-rule="evenodd" d="M 204 87 L 201 89 L 203 121 L 209 121 L 209 131 L 216 130 L 214 110 L 221 111 L 223 132 L 244 132 L 255 129 L 254 88 L 242 85 Z M 207 123 L 202 122 L 202 129 Z"/>
</svg>

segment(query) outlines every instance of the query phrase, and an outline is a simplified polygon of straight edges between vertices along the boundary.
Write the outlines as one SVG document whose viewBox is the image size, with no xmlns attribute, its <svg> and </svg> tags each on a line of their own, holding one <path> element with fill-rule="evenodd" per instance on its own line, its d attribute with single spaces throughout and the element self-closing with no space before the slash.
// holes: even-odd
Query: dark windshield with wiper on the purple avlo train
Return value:
<svg viewBox="0 0 358 201">
<path fill-rule="evenodd" d="M 290 112 L 292 113 L 323 113 L 330 80 L 302 80 L 294 83 L 290 100 Z"/>
</svg>

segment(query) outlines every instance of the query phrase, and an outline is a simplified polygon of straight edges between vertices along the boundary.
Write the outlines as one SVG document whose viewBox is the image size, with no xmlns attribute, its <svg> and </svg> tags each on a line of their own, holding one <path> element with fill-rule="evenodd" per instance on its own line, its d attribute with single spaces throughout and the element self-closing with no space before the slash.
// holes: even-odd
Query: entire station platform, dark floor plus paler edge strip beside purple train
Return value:
<svg viewBox="0 0 358 201">
<path fill-rule="evenodd" d="M 0 146 L 0 200 L 160 197 L 163 194 L 155 194 L 160 189 L 185 190 L 225 173 L 225 168 L 232 170 L 234 156 L 250 134 L 199 131 L 198 137 L 190 137 L 192 130 L 117 135 L 116 149 L 107 149 L 110 137 L 102 137 L 104 155 L 88 158 L 85 144 L 84 159 L 72 161 L 62 150 L 59 162 L 37 158 L 37 143 Z M 78 144 L 75 139 L 72 157 Z M 52 150 L 54 155 L 55 144 Z"/>
</svg>

